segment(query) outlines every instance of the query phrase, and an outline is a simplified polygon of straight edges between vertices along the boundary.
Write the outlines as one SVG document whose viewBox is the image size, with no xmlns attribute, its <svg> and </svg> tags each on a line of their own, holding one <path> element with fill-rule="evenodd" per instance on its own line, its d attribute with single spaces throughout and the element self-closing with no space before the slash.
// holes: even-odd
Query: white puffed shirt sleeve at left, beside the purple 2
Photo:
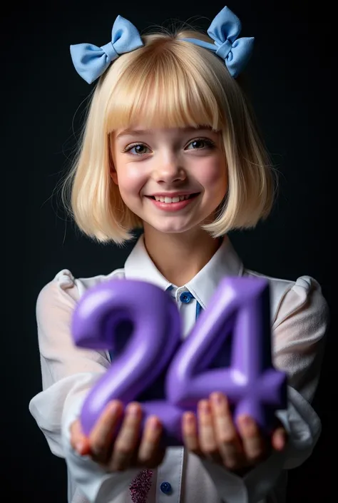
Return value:
<svg viewBox="0 0 338 503">
<path fill-rule="evenodd" d="M 138 470 L 108 474 L 70 444 L 71 423 L 78 418 L 88 390 L 110 365 L 108 353 L 73 344 L 71 315 L 79 290 L 79 280 L 62 270 L 39 293 L 36 320 L 43 390 L 31 400 L 29 410 L 53 454 L 66 459 L 81 492 L 90 502 L 108 503 L 128 487 Z"/>
</svg>

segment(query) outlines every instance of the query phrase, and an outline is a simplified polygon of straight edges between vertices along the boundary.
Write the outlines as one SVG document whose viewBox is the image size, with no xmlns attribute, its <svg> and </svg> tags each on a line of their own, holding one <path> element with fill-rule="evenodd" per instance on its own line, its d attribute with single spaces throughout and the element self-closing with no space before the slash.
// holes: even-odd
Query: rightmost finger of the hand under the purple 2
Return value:
<svg viewBox="0 0 338 503">
<path fill-rule="evenodd" d="M 148 417 L 138 449 L 138 464 L 141 466 L 155 468 L 159 464 L 160 457 L 164 457 L 165 449 L 160 449 L 162 431 L 163 427 L 158 417 Z"/>
</svg>

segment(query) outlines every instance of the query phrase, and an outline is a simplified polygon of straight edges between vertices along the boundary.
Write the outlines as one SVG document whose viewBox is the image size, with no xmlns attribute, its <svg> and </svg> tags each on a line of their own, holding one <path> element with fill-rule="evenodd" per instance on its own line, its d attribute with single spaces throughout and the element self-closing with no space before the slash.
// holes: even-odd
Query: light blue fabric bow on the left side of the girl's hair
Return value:
<svg viewBox="0 0 338 503">
<path fill-rule="evenodd" d="M 111 42 L 98 47 L 93 44 L 71 46 L 71 59 L 78 74 L 88 83 L 96 81 L 120 54 L 143 46 L 138 29 L 122 16 L 117 16 L 111 31 Z"/>
</svg>

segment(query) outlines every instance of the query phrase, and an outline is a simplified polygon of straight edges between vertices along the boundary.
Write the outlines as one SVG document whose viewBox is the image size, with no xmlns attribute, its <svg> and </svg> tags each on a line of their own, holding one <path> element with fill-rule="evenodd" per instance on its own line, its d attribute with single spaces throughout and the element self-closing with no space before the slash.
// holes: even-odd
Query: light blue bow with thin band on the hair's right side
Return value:
<svg viewBox="0 0 338 503">
<path fill-rule="evenodd" d="M 255 40 L 254 37 L 237 39 L 241 29 L 240 19 L 228 7 L 224 7 L 208 28 L 208 35 L 214 40 L 214 44 L 190 38 L 180 40 L 192 42 L 215 52 L 224 59 L 230 75 L 235 78 L 249 61 Z"/>
</svg>

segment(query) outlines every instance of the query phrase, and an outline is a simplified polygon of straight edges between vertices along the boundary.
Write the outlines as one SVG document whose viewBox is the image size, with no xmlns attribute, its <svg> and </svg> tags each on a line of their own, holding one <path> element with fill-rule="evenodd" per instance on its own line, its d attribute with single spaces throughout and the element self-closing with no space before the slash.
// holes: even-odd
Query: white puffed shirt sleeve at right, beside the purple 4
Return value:
<svg viewBox="0 0 338 503">
<path fill-rule="evenodd" d="M 222 501 L 240 503 L 238 494 L 244 491 L 250 503 L 260 502 L 274 489 L 283 469 L 299 466 L 312 453 L 321 422 L 310 402 L 319 380 L 328 322 L 327 302 L 316 280 L 302 276 L 284 289 L 272 325 L 272 350 L 275 366 L 288 376 L 288 407 L 277 412 L 289 434 L 287 447 L 241 480 L 203 461 Z"/>
</svg>

